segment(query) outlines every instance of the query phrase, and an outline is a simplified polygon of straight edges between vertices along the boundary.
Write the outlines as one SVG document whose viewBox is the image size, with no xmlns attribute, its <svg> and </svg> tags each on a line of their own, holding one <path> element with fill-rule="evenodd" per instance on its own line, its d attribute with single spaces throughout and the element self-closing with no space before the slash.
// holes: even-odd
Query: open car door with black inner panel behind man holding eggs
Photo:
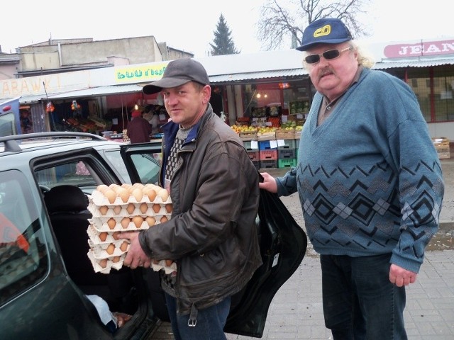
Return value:
<svg viewBox="0 0 454 340">
<path fill-rule="evenodd" d="M 154 181 L 157 181 L 159 171 L 154 175 L 155 171 L 140 162 L 153 157 L 155 163 L 160 165 L 160 143 L 123 145 L 121 157 L 133 183 L 157 184 Z M 272 298 L 303 260 L 307 238 L 304 229 L 297 224 L 277 194 L 264 190 L 260 190 L 256 226 L 263 263 L 248 285 L 233 295 L 224 331 L 260 338 Z"/>
</svg>

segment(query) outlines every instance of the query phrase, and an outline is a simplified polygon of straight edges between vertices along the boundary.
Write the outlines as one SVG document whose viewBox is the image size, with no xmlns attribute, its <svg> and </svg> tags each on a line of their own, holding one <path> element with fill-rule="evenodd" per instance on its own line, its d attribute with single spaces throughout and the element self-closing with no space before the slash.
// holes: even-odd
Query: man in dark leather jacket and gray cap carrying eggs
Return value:
<svg viewBox="0 0 454 340">
<path fill-rule="evenodd" d="M 176 271 L 161 271 L 175 339 L 226 339 L 231 296 L 262 263 L 258 171 L 243 142 L 213 112 L 199 62 L 170 62 L 143 92 L 160 92 L 171 118 L 163 126 L 160 185 L 170 191 L 173 211 L 167 222 L 123 233 L 131 241 L 123 264 L 175 261 Z"/>
</svg>

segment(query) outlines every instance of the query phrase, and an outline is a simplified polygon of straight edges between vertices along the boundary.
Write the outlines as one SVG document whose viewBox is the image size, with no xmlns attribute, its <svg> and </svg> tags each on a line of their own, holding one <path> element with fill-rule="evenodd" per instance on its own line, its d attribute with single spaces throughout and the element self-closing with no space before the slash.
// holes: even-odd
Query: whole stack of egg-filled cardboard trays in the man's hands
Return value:
<svg viewBox="0 0 454 340">
<path fill-rule="evenodd" d="M 167 189 L 155 184 L 123 183 L 101 184 L 89 196 L 88 210 L 92 213 L 87 234 L 87 256 L 95 272 L 109 273 L 119 270 L 129 248 L 128 240 L 118 236 L 121 232 L 148 229 L 170 220 L 172 200 Z M 175 271 L 172 261 L 153 261 L 153 269 Z"/>
</svg>

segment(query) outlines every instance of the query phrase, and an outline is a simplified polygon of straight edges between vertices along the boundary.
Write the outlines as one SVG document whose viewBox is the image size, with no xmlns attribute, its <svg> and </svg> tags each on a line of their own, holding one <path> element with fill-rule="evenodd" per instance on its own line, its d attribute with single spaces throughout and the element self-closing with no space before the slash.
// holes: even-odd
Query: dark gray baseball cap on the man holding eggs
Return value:
<svg viewBox="0 0 454 340">
<path fill-rule="evenodd" d="M 181 86 L 188 81 L 196 81 L 202 85 L 210 84 L 206 69 L 200 62 L 192 58 L 176 59 L 167 64 L 160 80 L 143 86 L 142 91 L 144 94 L 155 94 L 162 89 Z"/>
</svg>

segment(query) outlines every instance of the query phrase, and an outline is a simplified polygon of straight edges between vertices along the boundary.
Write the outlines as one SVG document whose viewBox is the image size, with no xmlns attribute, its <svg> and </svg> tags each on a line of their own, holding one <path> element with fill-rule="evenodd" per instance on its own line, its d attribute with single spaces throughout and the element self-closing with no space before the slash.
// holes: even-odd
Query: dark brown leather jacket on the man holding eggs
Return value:
<svg viewBox="0 0 454 340">
<path fill-rule="evenodd" d="M 175 123 L 164 127 L 163 162 L 177 130 Z M 258 171 L 243 142 L 208 105 L 178 152 L 172 218 L 139 237 L 149 256 L 176 261 L 180 314 L 237 293 L 262 263 L 259 195 Z"/>
</svg>

